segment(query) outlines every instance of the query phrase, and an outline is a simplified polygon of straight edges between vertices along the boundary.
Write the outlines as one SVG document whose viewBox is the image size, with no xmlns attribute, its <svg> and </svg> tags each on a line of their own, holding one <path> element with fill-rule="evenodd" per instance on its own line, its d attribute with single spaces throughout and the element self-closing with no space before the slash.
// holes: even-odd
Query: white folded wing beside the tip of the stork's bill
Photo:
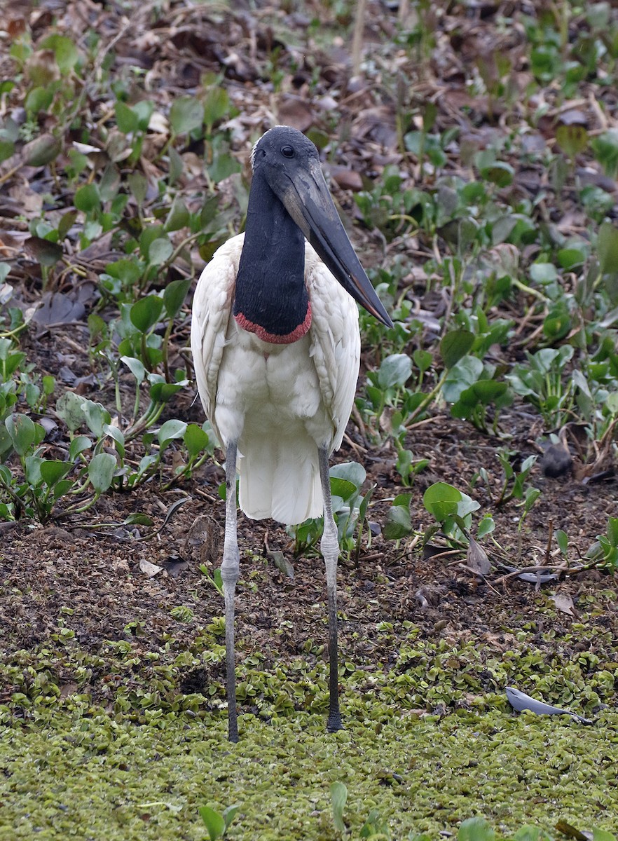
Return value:
<svg viewBox="0 0 618 841">
<path fill-rule="evenodd" d="M 332 421 L 332 435 L 324 443 L 333 452 L 341 446 L 357 391 L 361 357 L 358 309 L 309 244 L 305 278 L 311 301 L 311 356 Z"/>
</svg>

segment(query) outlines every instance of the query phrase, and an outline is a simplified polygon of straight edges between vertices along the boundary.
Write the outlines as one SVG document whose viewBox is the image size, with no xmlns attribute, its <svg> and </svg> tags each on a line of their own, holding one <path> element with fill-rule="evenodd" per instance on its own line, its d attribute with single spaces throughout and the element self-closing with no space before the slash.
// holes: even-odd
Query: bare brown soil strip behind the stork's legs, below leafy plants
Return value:
<svg viewBox="0 0 618 841">
<path fill-rule="evenodd" d="M 360 442 L 357 430 L 351 427 L 350 433 Z M 412 438 L 415 455 L 430 459 L 411 491 L 413 521 L 420 532 L 430 525 L 421 501 L 430 482 L 444 480 L 465 487 L 484 466 L 499 484 L 492 442 L 461 422 L 436 416 L 413 431 Z M 510 446 L 515 447 L 513 442 Z M 526 456 L 534 452 L 534 443 L 520 439 L 518 450 Z M 358 446 L 352 450 L 344 443 L 338 458 L 357 458 L 359 452 Z M 394 484 L 391 453 L 369 450 L 364 463 L 378 485 L 370 519 L 379 525 L 386 519 L 388 499 L 404 489 Z M 521 532 L 520 510 L 514 502 L 504 505 L 504 510 L 494 510 L 486 489 L 477 486 L 473 491 L 482 505 L 479 513 L 486 506 L 494 510 L 494 537 L 501 547 L 483 542 L 494 564 L 485 579 L 467 569 L 462 552 L 448 552 L 442 546 L 433 550 L 439 554 L 428 548 L 423 553 L 418 537 L 397 545 L 378 535 L 372 537 L 370 547 L 362 546 L 357 563 L 343 560 L 339 574 L 342 659 L 369 669 L 372 665 L 388 668 L 397 658 L 397 634 L 404 634 L 400 624 L 404 620 L 420 628 L 420 639 L 477 640 L 494 653 L 513 646 L 518 628 L 536 627 L 535 643 L 547 650 L 548 656 L 555 653 L 546 632 L 568 632 L 578 622 L 580 611 L 586 610 L 586 602 L 600 598 L 613 586 L 613 579 L 594 570 L 575 573 L 566 569 L 543 584 L 541 595 L 537 595 L 541 582 L 535 584 L 534 574 L 531 583 L 514 576 L 505 578 L 509 569 L 505 564 L 510 568 L 562 565 L 555 542 L 548 544 L 551 526 L 568 533 L 573 559 L 581 557 L 594 536 L 604 531 L 607 516 L 616 514 L 615 482 L 581 484 L 570 476 L 544 479 L 539 473 L 537 469 L 533 479 L 542 494 Z M 105 641 L 133 639 L 135 633 L 144 652 L 163 650 L 172 632 L 176 651 L 182 649 L 183 633 L 190 645 L 195 627 L 208 626 L 214 616 L 223 613 L 222 598 L 199 570 L 205 563 L 212 574 L 220 562 L 224 524 L 224 503 L 217 495 L 220 479 L 220 468 L 203 468 L 194 481 L 165 494 L 150 484 L 134 494 L 108 495 L 99 501 L 92 516 L 83 516 L 82 521 L 61 520 L 45 527 L 2 526 L 0 631 L 5 658 L 11 659 L 10 653 L 17 649 L 53 646 L 50 641 L 57 639 L 59 627 L 74 631 L 79 648 L 92 655 L 101 652 Z M 136 510 L 161 524 L 166 510 L 182 495 L 189 501 L 151 539 L 151 528 L 142 527 L 140 534 L 135 527 L 114 526 Z M 103 526 L 105 523 L 108 525 Z M 302 655 L 308 650 L 308 641 L 311 647 L 318 647 L 320 656 L 325 643 L 325 580 L 320 557 L 294 560 L 293 542 L 283 527 L 272 521 L 250 521 L 240 515 L 239 532 L 239 660 L 259 652 L 266 657 L 264 668 L 269 669 Z M 293 560 L 293 581 L 268 557 L 265 542 L 270 550 L 280 548 Z M 160 569 L 150 577 L 150 569 L 140 568 L 142 562 Z M 557 600 L 555 611 L 547 610 L 548 596 L 564 597 Z M 177 606 L 190 606 L 194 614 L 184 632 L 182 624 L 171 618 L 170 611 Z M 610 603 L 607 609 L 605 621 L 600 621 L 604 617 L 597 621 L 618 632 L 615 605 Z M 383 621 L 394 623 L 394 637 L 386 644 L 377 632 Z M 584 643 L 584 648 L 588 646 Z M 309 658 L 315 656 L 316 649 L 312 650 Z M 71 691 L 72 668 L 67 663 L 66 674 L 59 675 L 67 692 Z M 178 690 L 203 690 L 211 678 L 224 679 L 222 664 L 214 664 L 210 671 L 179 674 Z M 4 685 L 6 700 L 13 690 L 13 685 Z M 113 690 L 114 675 L 94 669 L 81 691 L 92 694 L 93 701 L 105 703 L 113 699 Z"/>
</svg>

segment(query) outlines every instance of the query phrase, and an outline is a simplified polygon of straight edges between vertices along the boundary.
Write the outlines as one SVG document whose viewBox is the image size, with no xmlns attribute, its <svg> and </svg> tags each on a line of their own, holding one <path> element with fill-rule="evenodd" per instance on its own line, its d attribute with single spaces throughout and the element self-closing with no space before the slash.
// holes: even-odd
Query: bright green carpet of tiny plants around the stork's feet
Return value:
<svg viewBox="0 0 618 841">
<path fill-rule="evenodd" d="M 370 704 L 354 711 L 335 736 L 320 716 L 244 716 L 237 745 L 221 716 L 138 724 L 86 706 L 43 711 L 3 733 L 0 838 L 204 838 L 198 807 L 232 803 L 230 838 L 336 838 L 335 780 L 348 788 L 353 838 L 372 808 L 394 838 L 440 838 L 478 814 L 504 838 L 525 823 L 615 829 L 615 712 L 583 727 L 499 710 L 442 719 L 392 710 L 384 724 Z"/>
</svg>

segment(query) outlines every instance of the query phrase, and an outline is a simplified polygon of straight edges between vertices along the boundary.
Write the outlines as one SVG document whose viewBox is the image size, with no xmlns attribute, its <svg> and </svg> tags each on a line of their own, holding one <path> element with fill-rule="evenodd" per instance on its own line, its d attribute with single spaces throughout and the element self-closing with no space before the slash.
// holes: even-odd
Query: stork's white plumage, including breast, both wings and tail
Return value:
<svg viewBox="0 0 618 841">
<path fill-rule="evenodd" d="M 223 447 L 238 442 L 240 508 L 297 524 L 320 516 L 318 451 L 333 452 L 350 417 L 361 341 L 357 304 L 305 243 L 309 332 L 274 345 L 232 315 L 245 235 L 215 252 L 193 299 L 191 349 L 203 410 Z"/>
</svg>

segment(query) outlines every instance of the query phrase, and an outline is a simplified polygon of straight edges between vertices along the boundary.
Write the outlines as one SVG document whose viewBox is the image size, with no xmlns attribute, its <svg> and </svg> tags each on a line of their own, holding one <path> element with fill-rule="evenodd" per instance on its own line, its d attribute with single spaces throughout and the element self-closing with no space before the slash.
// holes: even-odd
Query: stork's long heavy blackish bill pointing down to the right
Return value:
<svg viewBox="0 0 618 841">
<path fill-rule="evenodd" d="M 367 278 L 341 224 L 318 161 L 308 169 L 288 173 L 288 178 L 271 184 L 288 214 L 329 267 L 341 286 L 383 325 L 392 327 L 382 301 Z"/>
</svg>

